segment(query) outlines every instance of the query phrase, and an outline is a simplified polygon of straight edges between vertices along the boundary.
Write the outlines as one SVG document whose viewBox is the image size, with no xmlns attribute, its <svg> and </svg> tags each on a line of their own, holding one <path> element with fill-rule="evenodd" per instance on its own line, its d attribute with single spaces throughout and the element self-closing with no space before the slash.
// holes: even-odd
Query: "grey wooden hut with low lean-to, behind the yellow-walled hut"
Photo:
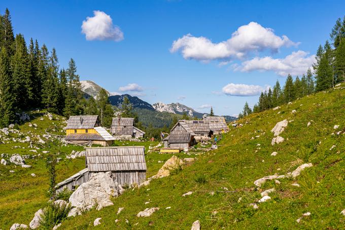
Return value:
<svg viewBox="0 0 345 230">
<path fill-rule="evenodd" d="M 134 118 L 130 117 L 113 117 L 111 132 L 114 136 L 143 138 L 145 132 L 134 127 Z"/>
</svg>

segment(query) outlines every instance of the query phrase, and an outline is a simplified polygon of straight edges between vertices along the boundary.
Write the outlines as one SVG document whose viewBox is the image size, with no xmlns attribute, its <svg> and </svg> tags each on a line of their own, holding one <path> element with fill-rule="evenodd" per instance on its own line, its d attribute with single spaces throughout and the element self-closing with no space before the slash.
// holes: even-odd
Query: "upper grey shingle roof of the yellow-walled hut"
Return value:
<svg viewBox="0 0 345 230">
<path fill-rule="evenodd" d="M 98 126 L 97 115 L 70 116 L 66 129 L 87 129 Z"/>
</svg>

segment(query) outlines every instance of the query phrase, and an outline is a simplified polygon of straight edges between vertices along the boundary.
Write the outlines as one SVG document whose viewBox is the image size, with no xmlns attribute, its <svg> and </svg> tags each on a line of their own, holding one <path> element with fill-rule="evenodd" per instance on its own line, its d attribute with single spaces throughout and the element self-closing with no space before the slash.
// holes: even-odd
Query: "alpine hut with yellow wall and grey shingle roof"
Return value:
<svg viewBox="0 0 345 230">
<path fill-rule="evenodd" d="M 110 146 L 115 138 L 99 126 L 97 115 L 70 116 L 67 120 L 65 141 L 70 144 Z"/>
</svg>

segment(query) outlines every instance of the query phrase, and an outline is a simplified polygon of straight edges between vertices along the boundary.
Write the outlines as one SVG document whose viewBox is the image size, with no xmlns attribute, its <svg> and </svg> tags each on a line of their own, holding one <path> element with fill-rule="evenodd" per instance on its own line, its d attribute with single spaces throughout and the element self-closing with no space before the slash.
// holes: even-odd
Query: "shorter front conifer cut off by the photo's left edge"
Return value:
<svg viewBox="0 0 345 230">
<path fill-rule="evenodd" d="M 8 126 L 14 120 L 14 93 L 10 60 L 6 48 L 0 52 L 0 126 Z"/>
</svg>

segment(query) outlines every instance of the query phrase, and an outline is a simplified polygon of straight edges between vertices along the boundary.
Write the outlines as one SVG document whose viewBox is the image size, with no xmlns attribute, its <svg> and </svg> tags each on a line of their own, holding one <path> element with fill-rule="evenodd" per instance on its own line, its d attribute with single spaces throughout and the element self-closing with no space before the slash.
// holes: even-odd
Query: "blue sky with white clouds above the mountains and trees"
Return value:
<svg viewBox="0 0 345 230">
<path fill-rule="evenodd" d="M 15 33 L 55 47 L 60 67 L 74 58 L 81 80 L 151 104 L 233 115 L 277 79 L 284 84 L 286 73 L 307 69 L 345 2 L 2 1 L 6 7 Z"/>
</svg>

